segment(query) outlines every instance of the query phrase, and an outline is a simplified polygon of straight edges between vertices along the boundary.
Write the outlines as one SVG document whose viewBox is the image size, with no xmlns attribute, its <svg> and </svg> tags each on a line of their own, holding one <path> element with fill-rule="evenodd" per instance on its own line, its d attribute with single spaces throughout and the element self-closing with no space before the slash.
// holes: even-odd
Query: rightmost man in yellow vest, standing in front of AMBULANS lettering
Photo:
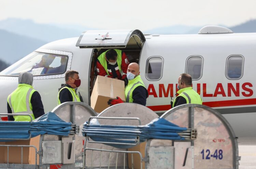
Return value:
<svg viewBox="0 0 256 169">
<path fill-rule="evenodd" d="M 199 104 L 202 105 L 202 98 L 192 89 L 192 78 L 189 74 L 183 73 L 178 78 L 177 88 L 179 94 L 173 101 L 172 107 L 183 104 Z"/>
</svg>

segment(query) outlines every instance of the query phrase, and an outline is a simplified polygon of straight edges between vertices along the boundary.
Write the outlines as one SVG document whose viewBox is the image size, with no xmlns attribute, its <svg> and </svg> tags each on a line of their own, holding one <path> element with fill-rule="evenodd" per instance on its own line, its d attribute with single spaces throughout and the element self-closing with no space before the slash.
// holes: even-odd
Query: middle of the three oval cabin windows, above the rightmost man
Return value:
<svg viewBox="0 0 256 169">
<path fill-rule="evenodd" d="M 192 80 L 198 80 L 202 76 L 203 59 L 200 56 L 191 56 L 187 59 L 186 73 L 190 74 Z"/>
</svg>

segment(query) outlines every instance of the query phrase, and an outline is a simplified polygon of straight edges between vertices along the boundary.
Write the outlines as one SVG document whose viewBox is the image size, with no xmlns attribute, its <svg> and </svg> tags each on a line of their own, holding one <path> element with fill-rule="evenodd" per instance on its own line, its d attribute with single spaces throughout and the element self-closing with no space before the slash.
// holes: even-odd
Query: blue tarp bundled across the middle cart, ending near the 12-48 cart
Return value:
<svg viewBox="0 0 256 169">
<path fill-rule="evenodd" d="M 97 121 L 92 121 L 90 124 L 84 123 L 83 135 L 87 135 L 97 142 L 108 142 L 106 145 L 117 148 L 129 148 L 133 145 L 117 145 L 111 144 L 111 142 L 134 144 L 137 138 L 140 139 L 140 142 L 150 138 L 183 140 L 184 138 L 178 132 L 187 130 L 187 128 L 179 127 L 163 118 L 156 118 L 145 126 L 100 125 L 95 123 Z"/>
</svg>

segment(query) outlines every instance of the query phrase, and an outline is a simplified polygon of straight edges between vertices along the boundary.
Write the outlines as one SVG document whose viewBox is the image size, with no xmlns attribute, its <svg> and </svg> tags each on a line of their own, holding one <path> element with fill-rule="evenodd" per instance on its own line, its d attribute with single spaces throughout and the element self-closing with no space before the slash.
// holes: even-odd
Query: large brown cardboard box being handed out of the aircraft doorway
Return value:
<svg viewBox="0 0 256 169">
<path fill-rule="evenodd" d="M 97 76 L 91 93 L 91 107 L 98 113 L 109 107 L 111 98 L 120 97 L 125 100 L 125 84 L 123 80 Z"/>
</svg>

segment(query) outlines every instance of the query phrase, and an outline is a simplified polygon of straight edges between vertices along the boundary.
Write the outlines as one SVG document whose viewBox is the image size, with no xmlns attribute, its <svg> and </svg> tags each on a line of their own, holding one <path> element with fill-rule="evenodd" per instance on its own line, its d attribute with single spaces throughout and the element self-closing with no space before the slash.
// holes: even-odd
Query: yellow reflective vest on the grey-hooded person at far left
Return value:
<svg viewBox="0 0 256 169">
<path fill-rule="evenodd" d="M 32 112 L 31 97 L 36 90 L 29 84 L 18 84 L 15 89 L 7 98 L 7 102 L 12 109 L 12 113 L 30 114 L 34 120 Z M 14 116 L 15 121 L 30 121 L 29 116 Z"/>
</svg>

